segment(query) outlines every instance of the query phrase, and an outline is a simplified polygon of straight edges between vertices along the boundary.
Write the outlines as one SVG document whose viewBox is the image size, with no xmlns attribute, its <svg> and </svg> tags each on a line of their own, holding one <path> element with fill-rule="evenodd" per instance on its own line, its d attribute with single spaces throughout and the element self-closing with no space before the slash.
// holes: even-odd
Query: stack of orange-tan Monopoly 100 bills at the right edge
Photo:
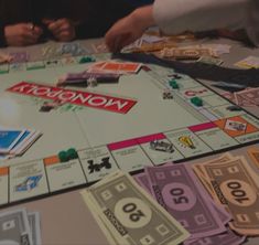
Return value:
<svg viewBox="0 0 259 245">
<path fill-rule="evenodd" d="M 245 236 L 259 234 L 259 181 L 244 157 L 224 155 L 213 161 L 193 166 L 213 200 L 233 217 L 228 223 Z"/>
</svg>

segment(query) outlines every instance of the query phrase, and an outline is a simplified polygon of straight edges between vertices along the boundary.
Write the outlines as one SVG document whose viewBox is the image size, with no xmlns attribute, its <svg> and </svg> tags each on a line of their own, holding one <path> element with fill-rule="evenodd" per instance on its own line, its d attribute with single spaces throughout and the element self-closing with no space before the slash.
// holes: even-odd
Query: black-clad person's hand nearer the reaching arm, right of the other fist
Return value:
<svg viewBox="0 0 259 245">
<path fill-rule="evenodd" d="M 75 24 L 69 19 L 43 20 L 54 38 L 61 42 L 69 42 L 76 38 Z"/>
</svg>

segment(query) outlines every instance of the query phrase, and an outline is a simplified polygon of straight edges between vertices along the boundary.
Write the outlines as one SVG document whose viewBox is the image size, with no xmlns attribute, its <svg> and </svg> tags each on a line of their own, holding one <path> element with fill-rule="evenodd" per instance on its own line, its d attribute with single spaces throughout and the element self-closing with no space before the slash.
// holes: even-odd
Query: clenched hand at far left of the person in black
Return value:
<svg viewBox="0 0 259 245">
<path fill-rule="evenodd" d="M 9 46 L 26 46 L 35 44 L 42 29 L 32 23 L 19 23 L 4 28 L 4 38 Z"/>
</svg>

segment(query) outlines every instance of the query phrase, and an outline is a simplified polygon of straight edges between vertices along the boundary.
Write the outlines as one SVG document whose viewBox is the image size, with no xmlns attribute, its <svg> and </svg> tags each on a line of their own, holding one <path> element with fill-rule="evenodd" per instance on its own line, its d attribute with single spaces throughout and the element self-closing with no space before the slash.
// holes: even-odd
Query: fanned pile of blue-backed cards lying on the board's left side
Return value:
<svg viewBox="0 0 259 245">
<path fill-rule="evenodd" d="M 0 159 L 23 155 L 41 135 L 34 129 L 0 127 Z"/>
</svg>

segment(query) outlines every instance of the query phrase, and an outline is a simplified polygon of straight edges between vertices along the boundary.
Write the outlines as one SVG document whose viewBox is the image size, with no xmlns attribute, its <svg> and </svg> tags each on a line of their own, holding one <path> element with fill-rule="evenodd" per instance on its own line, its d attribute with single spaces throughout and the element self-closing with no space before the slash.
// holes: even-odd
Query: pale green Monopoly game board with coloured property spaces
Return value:
<svg viewBox="0 0 259 245">
<path fill-rule="evenodd" d="M 96 61 L 109 54 L 93 55 Z M 42 137 L 22 157 L 0 160 L 0 205 L 88 185 L 121 169 L 185 161 L 259 139 L 259 119 L 173 68 L 143 65 L 118 83 L 56 87 L 58 77 L 91 63 L 79 57 L 2 65 L 0 125 Z M 176 81 L 171 89 L 169 82 Z M 173 98 L 163 98 L 171 89 Z M 202 98 L 203 105 L 192 103 Z M 66 100 L 43 111 L 44 103 Z M 71 148 L 77 156 L 61 161 Z"/>
</svg>

